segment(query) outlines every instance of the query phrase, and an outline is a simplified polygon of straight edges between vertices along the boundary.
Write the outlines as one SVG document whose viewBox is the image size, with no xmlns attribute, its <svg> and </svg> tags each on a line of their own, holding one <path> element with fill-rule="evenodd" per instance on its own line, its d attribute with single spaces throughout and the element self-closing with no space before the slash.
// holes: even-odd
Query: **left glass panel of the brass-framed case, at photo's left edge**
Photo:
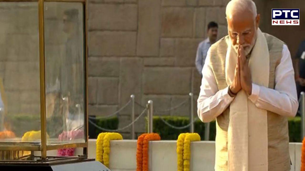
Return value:
<svg viewBox="0 0 305 171">
<path fill-rule="evenodd" d="M 0 142 L 40 144 L 39 86 L 38 3 L 0 2 Z"/>
</svg>

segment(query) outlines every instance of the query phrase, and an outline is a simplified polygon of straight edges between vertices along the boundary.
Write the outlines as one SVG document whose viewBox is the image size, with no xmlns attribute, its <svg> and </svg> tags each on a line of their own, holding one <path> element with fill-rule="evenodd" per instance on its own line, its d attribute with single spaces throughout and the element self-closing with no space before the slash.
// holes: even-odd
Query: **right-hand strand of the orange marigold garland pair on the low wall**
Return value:
<svg viewBox="0 0 305 171">
<path fill-rule="evenodd" d="M 142 170 L 148 171 L 148 146 L 149 141 L 160 141 L 160 135 L 156 133 L 147 134 L 143 140 L 143 164 L 142 164 Z"/>
</svg>

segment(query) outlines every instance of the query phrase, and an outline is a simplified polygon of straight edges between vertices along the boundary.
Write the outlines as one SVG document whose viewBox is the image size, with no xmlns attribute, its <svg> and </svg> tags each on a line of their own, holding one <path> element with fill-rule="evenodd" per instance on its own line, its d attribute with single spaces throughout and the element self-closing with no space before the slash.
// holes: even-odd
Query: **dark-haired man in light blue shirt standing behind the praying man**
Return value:
<svg viewBox="0 0 305 171">
<path fill-rule="evenodd" d="M 209 50 L 211 44 L 216 42 L 217 39 L 217 31 L 218 31 L 218 24 L 211 21 L 208 24 L 208 31 L 206 40 L 203 40 L 198 45 L 197 55 L 196 55 L 196 68 L 200 75 L 202 75 L 201 71 L 204 65 L 204 61 L 206 60 L 206 53 Z"/>
</svg>

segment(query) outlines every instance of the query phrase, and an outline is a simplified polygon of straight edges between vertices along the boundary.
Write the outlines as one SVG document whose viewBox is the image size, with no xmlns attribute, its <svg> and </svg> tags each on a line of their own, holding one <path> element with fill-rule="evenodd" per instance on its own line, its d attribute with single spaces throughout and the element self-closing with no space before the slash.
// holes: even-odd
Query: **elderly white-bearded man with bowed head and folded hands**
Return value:
<svg viewBox="0 0 305 171">
<path fill-rule="evenodd" d="M 287 117 L 298 108 L 287 45 L 259 29 L 251 0 L 226 7 L 228 35 L 203 66 L 198 116 L 216 118 L 216 171 L 289 171 Z M 268 16 L 269 17 L 269 16 Z"/>
</svg>

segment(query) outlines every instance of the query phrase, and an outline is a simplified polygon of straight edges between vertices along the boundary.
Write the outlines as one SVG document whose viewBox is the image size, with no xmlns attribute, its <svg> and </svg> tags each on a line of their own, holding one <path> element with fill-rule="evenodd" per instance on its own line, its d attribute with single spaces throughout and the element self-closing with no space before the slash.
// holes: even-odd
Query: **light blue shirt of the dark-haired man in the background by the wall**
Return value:
<svg viewBox="0 0 305 171">
<path fill-rule="evenodd" d="M 203 40 L 198 45 L 195 64 L 196 64 L 196 68 L 200 75 L 202 75 L 202 68 L 204 65 L 204 61 L 206 60 L 206 54 L 207 54 L 210 46 L 211 46 L 211 43 L 210 43 L 209 38 L 207 38 L 206 40 Z"/>
</svg>

